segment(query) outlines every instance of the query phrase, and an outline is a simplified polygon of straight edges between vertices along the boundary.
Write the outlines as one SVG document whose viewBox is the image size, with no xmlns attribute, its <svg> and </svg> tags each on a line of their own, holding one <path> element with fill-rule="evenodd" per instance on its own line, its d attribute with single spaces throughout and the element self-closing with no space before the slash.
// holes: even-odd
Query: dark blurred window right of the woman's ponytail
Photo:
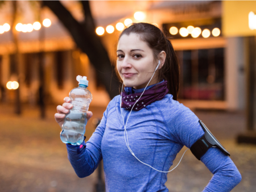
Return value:
<svg viewBox="0 0 256 192">
<path fill-rule="evenodd" d="M 180 99 L 224 100 L 224 48 L 176 51 Z"/>
</svg>

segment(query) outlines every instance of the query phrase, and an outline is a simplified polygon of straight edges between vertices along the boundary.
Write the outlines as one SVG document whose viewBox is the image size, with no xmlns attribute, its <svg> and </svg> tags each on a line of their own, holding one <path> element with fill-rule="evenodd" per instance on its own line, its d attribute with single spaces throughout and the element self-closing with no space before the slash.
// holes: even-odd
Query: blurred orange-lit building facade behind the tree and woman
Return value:
<svg viewBox="0 0 256 192">
<path fill-rule="evenodd" d="M 61 2 L 77 20 L 84 19 L 78 2 L 68 0 Z M 96 26 L 104 28 L 104 31 L 100 31 L 99 28 L 97 33 L 101 35 L 112 60 L 116 59 L 117 38 L 124 24 L 129 23 L 127 19 L 131 19 L 132 22 L 155 24 L 167 36 L 171 36 L 171 42 L 180 62 L 180 102 L 188 107 L 243 110 L 245 108 L 245 40 L 240 35 L 223 35 L 222 30 L 225 27 L 223 6 L 228 5 L 227 2 L 230 1 L 90 1 Z M 32 11 L 26 9 L 28 10 L 20 23 L 34 23 L 36 20 L 31 16 Z M 6 17 L 2 16 L 7 13 L 7 11 L 0 13 L 0 24 L 7 22 Z M 110 101 L 108 94 L 98 81 L 88 57 L 76 48 L 72 37 L 51 11 L 44 9 L 41 16 L 51 20 L 51 26 L 42 26 L 40 29 L 45 32 L 43 48 L 46 101 L 61 103 L 69 91 L 77 86 L 76 76 L 81 75 L 88 76 L 88 89 L 93 94 L 92 105 L 108 105 Z M 243 22 L 247 23 L 248 20 Z M 109 25 L 114 28 L 112 33 L 106 31 Z M 42 42 L 40 30 L 19 32 L 19 89 L 22 102 L 31 105 L 35 105 L 38 98 L 38 52 Z M 6 95 L 6 102 L 14 99 L 13 91 L 6 89 L 6 83 L 15 80 L 13 52 L 11 34 L 3 32 L 0 34 L 0 84 L 1 97 Z"/>
</svg>

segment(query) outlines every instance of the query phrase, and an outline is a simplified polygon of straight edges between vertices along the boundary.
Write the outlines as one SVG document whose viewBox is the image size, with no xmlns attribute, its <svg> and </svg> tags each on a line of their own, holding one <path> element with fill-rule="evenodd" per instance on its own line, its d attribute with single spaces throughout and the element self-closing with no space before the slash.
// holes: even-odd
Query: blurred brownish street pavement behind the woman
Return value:
<svg viewBox="0 0 256 192">
<path fill-rule="evenodd" d="M 10 105 L 0 106 L 0 191 L 93 191 L 97 172 L 86 178 L 76 176 L 59 137 L 61 128 L 54 119 L 56 106 L 47 107 L 45 120 L 39 118 L 36 107 L 24 105 L 22 109 L 22 116 L 16 116 Z M 90 107 L 93 117 L 86 126 L 86 140 L 94 131 L 93 119 L 101 118 L 104 110 Z M 195 114 L 230 152 L 242 174 L 241 183 L 232 191 L 254 191 L 256 146 L 235 142 L 237 134 L 245 130 L 245 115 L 225 111 L 195 111 Z M 174 166 L 184 151 L 185 147 Z M 188 150 L 180 165 L 168 173 L 166 186 L 175 192 L 202 191 L 211 177 L 207 167 Z"/>
</svg>

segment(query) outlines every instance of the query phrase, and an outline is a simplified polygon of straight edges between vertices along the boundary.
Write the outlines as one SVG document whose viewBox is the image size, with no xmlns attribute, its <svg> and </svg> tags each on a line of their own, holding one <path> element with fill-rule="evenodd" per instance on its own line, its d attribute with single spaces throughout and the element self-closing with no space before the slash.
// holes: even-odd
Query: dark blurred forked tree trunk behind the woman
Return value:
<svg viewBox="0 0 256 192">
<path fill-rule="evenodd" d="M 86 53 L 90 62 L 96 68 L 96 73 L 110 98 L 119 94 L 119 81 L 100 37 L 96 34 L 95 24 L 90 11 L 89 0 L 81 0 L 84 9 L 84 21 L 78 22 L 59 0 L 42 0 L 57 18 L 63 23 L 73 37 L 77 47 Z"/>
</svg>

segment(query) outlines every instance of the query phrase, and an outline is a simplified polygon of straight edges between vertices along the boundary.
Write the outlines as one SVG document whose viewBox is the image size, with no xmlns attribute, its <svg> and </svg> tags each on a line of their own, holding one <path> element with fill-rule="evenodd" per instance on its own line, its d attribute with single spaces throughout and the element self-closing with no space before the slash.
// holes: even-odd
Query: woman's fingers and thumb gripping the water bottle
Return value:
<svg viewBox="0 0 256 192">
<path fill-rule="evenodd" d="M 69 97 L 65 97 L 63 105 L 57 106 L 57 112 L 54 116 L 55 116 L 56 122 L 59 124 L 60 127 L 63 126 L 65 115 L 68 114 L 69 110 L 73 107 L 73 105 L 70 102 L 71 102 L 71 99 Z M 93 115 L 92 111 L 87 112 L 87 116 L 86 116 L 87 121 L 92 117 L 92 115 Z"/>
</svg>

